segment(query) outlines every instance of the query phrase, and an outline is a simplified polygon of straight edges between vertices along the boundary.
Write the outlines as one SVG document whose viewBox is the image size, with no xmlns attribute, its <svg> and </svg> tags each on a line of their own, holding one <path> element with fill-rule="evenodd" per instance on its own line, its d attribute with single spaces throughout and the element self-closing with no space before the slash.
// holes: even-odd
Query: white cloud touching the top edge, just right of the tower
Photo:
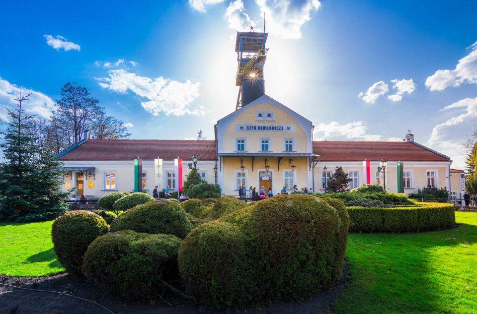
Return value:
<svg viewBox="0 0 477 314">
<path fill-rule="evenodd" d="M 260 12 L 265 12 L 266 30 L 283 38 L 301 38 L 303 24 L 318 10 L 318 0 L 255 0 Z"/>
</svg>

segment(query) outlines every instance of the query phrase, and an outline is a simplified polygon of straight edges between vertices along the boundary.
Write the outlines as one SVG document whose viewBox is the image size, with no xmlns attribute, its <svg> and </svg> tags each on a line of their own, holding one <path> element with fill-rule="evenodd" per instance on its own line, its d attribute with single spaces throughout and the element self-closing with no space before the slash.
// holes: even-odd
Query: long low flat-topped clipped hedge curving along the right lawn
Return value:
<svg viewBox="0 0 477 314">
<path fill-rule="evenodd" d="M 449 228 L 456 222 L 454 205 L 419 203 L 412 207 L 347 207 L 350 232 L 419 232 Z"/>
</svg>

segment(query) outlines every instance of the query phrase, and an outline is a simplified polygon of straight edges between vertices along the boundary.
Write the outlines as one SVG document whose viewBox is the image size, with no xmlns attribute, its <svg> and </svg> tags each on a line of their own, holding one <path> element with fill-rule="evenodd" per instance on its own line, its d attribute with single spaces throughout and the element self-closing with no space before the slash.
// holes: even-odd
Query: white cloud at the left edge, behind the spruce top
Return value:
<svg viewBox="0 0 477 314">
<path fill-rule="evenodd" d="M 16 108 L 18 102 L 13 98 L 18 97 L 19 86 L 11 84 L 0 77 L 0 104 L 3 106 L 0 109 L 0 119 L 7 121 L 8 117 L 4 106 L 8 108 Z M 29 93 L 28 101 L 22 103 L 22 109 L 29 115 L 38 115 L 38 118 L 49 118 L 51 112 L 56 110 L 56 103 L 47 95 L 34 91 L 28 88 L 21 88 L 21 95 L 26 96 Z"/>
</svg>

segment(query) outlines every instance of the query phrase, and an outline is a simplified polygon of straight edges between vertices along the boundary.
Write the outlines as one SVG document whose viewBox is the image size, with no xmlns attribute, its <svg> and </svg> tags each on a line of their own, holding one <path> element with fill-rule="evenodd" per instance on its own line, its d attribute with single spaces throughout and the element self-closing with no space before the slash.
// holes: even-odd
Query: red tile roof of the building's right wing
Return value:
<svg viewBox="0 0 477 314">
<path fill-rule="evenodd" d="M 320 161 L 449 161 L 443 155 L 412 142 L 314 141 Z"/>
</svg>

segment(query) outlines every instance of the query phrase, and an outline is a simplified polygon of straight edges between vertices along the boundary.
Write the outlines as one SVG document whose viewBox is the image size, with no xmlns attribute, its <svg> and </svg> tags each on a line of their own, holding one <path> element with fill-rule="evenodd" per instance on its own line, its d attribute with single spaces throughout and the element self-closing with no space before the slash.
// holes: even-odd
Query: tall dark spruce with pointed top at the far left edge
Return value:
<svg viewBox="0 0 477 314">
<path fill-rule="evenodd" d="M 10 121 L 2 131 L 4 136 L 0 144 L 4 162 L 0 164 L 0 219 L 16 220 L 35 210 L 32 197 L 34 192 L 35 156 L 38 153 L 33 143 L 33 135 L 29 128 L 31 116 L 21 108 L 28 96 L 16 97 L 17 107 L 7 108 Z"/>
</svg>

